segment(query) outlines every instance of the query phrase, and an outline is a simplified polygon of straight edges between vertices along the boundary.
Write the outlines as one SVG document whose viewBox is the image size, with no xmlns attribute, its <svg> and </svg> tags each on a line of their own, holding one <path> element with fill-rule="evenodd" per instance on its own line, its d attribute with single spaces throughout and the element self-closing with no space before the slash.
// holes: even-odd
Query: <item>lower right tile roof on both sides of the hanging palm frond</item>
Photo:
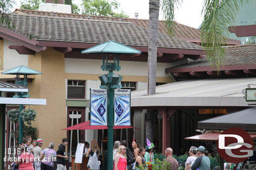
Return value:
<svg viewBox="0 0 256 170">
<path fill-rule="evenodd" d="M 256 64 L 256 44 L 245 44 L 238 46 L 225 47 L 226 60 L 225 66 L 235 66 L 243 64 Z M 207 58 L 191 60 L 188 58 L 188 63 L 175 68 L 188 67 L 207 67 L 211 66 Z"/>
</svg>

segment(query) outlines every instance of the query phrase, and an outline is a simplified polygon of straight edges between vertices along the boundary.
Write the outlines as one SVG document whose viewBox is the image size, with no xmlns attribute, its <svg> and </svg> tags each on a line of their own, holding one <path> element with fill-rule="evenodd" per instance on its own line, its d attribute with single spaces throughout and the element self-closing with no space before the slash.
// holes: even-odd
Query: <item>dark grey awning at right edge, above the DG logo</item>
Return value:
<svg viewBox="0 0 256 170">
<path fill-rule="evenodd" d="M 247 131 L 256 131 L 256 107 L 225 114 L 197 122 L 199 129 L 228 129 L 238 127 Z"/>
</svg>

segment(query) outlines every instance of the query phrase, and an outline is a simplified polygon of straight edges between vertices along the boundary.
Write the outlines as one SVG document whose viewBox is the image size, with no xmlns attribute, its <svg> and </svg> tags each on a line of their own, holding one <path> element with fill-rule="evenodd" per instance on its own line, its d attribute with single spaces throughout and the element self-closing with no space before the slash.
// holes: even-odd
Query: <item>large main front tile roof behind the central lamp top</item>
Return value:
<svg viewBox="0 0 256 170">
<path fill-rule="evenodd" d="M 128 46 L 148 46 L 148 29 L 131 22 L 88 20 L 37 15 L 12 14 L 12 31 L 37 41 L 103 43 L 114 40 Z M 3 28 L 7 25 L 0 23 Z M 201 46 L 158 33 L 158 47 L 202 50 Z"/>
</svg>

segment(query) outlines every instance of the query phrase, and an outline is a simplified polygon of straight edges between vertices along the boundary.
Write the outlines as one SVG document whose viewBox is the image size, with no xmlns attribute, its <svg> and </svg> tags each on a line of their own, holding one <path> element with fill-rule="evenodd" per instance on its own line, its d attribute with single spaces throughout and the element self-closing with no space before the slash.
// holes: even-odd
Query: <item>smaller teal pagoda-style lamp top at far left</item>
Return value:
<svg viewBox="0 0 256 170">
<path fill-rule="evenodd" d="M 21 85 L 21 86 L 27 86 L 28 82 L 28 75 L 33 75 L 33 74 L 42 74 L 39 71 L 30 69 L 28 67 L 25 66 L 18 66 L 14 69 L 10 69 L 8 71 L 3 72 L 2 74 L 13 74 L 16 75 L 16 81 L 15 84 Z M 20 79 L 20 75 L 24 75 L 24 80 Z"/>
</svg>

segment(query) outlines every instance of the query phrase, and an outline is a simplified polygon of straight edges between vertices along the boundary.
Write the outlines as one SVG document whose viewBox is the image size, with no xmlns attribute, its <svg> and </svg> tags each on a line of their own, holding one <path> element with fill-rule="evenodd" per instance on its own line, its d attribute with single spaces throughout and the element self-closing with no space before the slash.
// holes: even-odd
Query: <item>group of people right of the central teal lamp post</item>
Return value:
<svg viewBox="0 0 256 170">
<path fill-rule="evenodd" d="M 125 143 L 125 145 L 123 145 Z M 130 156 L 129 148 L 126 147 L 126 141 L 115 141 L 113 146 L 113 160 L 114 170 L 135 170 L 138 167 L 151 170 L 154 164 L 154 152 L 155 146 L 148 139 L 146 139 L 146 147 L 141 147 L 138 140 L 133 139 L 133 163 L 128 164 L 128 157 Z M 172 157 L 172 148 L 167 147 L 165 149 L 165 162 L 170 164 L 170 170 L 178 170 L 179 162 Z M 190 147 L 189 157 L 185 162 L 185 170 L 210 170 L 210 159 L 205 155 L 206 148 L 204 146 Z"/>
</svg>

